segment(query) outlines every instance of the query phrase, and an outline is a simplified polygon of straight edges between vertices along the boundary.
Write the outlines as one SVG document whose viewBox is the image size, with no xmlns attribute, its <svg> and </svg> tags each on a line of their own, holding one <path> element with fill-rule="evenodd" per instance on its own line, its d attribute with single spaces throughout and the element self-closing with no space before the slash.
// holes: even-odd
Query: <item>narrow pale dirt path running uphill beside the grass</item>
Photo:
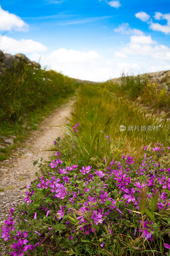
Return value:
<svg viewBox="0 0 170 256">
<path fill-rule="evenodd" d="M 4 188 L 4 191 L 0 192 L 0 227 L 4 225 L 12 204 L 23 202 L 27 188 L 21 188 L 35 179 L 34 174 L 39 169 L 36 165 L 33 166 L 33 161 L 41 157 L 48 160 L 52 153 L 45 150 L 50 148 L 49 145 L 53 145 L 58 136 L 63 135 L 62 127 L 50 127 L 50 125 L 66 124 L 73 110 L 74 101 L 74 99 L 70 100 L 43 120 L 40 128 L 31 134 L 32 138 L 25 142 L 26 148 L 21 148 L 23 154 L 21 157 L 15 157 L 10 162 L 4 161 L 6 166 L 0 168 L 0 188 Z"/>
</svg>

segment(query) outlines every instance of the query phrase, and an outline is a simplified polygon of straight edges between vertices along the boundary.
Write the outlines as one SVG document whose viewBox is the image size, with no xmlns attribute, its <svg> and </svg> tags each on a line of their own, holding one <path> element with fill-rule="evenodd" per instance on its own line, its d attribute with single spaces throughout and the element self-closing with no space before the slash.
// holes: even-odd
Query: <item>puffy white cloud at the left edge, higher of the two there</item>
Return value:
<svg viewBox="0 0 170 256">
<path fill-rule="evenodd" d="M 0 5 L 0 30 L 28 30 L 28 25 L 17 15 L 4 11 Z"/>
</svg>

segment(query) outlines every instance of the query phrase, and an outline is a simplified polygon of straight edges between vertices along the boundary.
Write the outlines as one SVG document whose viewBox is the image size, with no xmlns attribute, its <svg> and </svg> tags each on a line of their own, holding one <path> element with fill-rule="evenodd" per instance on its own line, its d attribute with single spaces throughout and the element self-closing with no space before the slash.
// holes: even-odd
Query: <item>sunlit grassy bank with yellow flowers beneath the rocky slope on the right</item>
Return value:
<svg viewBox="0 0 170 256">
<path fill-rule="evenodd" d="M 170 90 L 168 81 L 164 81 Z M 120 85 L 112 80 L 101 84 L 102 87 L 119 97 L 129 100 L 138 100 L 154 109 L 161 109 L 165 112 L 170 110 L 170 93 L 161 84 L 151 83 L 147 76 L 125 76 L 121 77 Z"/>
</svg>

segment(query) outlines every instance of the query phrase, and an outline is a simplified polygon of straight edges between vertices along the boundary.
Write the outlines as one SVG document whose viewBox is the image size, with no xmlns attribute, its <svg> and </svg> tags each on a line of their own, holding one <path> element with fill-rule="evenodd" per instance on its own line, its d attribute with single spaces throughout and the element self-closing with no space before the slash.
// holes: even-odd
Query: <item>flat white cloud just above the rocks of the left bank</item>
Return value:
<svg viewBox="0 0 170 256">
<path fill-rule="evenodd" d="M 47 47 L 43 44 L 33 41 L 32 39 L 16 40 L 11 37 L 2 36 L 0 39 L 0 49 L 4 52 L 11 54 L 15 53 L 32 53 L 32 52 L 44 52 Z"/>
</svg>

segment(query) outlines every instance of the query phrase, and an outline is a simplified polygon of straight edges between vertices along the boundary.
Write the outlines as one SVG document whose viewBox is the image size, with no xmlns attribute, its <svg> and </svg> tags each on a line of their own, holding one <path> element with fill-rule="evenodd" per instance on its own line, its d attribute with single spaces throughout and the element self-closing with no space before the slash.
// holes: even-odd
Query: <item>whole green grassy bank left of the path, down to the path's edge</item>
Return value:
<svg viewBox="0 0 170 256">
<path fill-rule="evenodd" d="M 37 69 L 20 61 L 0 76 L 0 135 L 15 135 L 14 145 L 0 148 L 0 161 L 9 158 L 37 124 L 73 95 L 77 84 L 53 70 Z M 26 127 L 24 127 L 26 126 Z M 0 137 L 0 143 L 2 142 Z"/>
</svg>

